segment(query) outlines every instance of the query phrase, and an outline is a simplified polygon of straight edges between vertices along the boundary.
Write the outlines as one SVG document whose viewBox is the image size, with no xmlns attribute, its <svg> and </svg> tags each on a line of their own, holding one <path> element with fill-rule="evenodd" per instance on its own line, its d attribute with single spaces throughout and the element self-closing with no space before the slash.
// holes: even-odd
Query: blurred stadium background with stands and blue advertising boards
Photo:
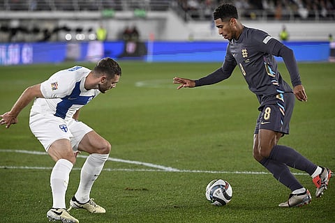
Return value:
<svg viewBox="0 0 335 223">
<path fill-rule="evenodd" d="M 298 61 L 333 61 L 334 0 L 3 0 L 0 65 L 96 61 L 223 61 L 212 12 L 234 3 L 241 21 L 279 38 Z M 103 29 L 105 37 L 98 38 Z M 330 42 L 330 43 L 329 43 Z"/>
</svg>

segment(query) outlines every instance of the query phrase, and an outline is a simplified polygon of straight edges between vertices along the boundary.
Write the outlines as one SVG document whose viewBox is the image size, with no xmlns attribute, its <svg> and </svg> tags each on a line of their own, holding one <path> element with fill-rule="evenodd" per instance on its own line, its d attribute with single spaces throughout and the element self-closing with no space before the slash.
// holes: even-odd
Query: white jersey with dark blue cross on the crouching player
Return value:
<svg viewBox="0 0 335 223">
<path fill-rule="evenodd" d="M 75 66 L 60 70 L 40 84 L 44 98 L 36 98 L 31 113 L 52 114 L 65 121 L 73 119 L 78 109 L 86 105 L 100 93 L 98 89 L 86 90 L 84 83 L 88 68 Z"/>
</svg>

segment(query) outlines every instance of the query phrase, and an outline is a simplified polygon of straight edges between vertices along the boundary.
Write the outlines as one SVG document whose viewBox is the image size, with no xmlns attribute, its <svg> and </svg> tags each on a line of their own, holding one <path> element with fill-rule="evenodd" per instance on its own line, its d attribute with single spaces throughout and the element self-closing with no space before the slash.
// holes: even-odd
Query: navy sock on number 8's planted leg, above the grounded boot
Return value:
<svg viewBox="0 0 335 223">
<path fill-rule="evenodd" d="M 260 160 L 260 164 L 267 168 L 271 174 L 274 175 L 279 182 L 281 182 L 286 187 L 290 188 L 291 191 L 300 189 L 303 187 L 299 181 L 292 175 L 290 169 L 286 164 L 278 162 L 276 160 L 271 160 L 269 158 L 263 158 Z"/>
</svg>

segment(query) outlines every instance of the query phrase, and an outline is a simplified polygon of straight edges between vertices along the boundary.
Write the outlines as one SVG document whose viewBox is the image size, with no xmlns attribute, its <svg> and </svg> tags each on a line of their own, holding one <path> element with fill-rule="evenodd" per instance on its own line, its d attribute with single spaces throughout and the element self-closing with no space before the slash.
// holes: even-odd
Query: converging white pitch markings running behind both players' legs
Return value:
<svg viewBox="0 0 335 223">
<path fill-rule="evenodd" d="M 0 152 L 6 153 L 26 153 L 26 154 L 34 154 L 34 155 L 47 155 L 45 152 L 38 151 L 24 151 L 24 150 L 11 150 L 11 149 L 0 149 Z M 87 158 L 87 155 L 77 155 L 80 158 Z M 104 168 L 103 171 L 147 171 L 147 172 L 177 172 L 177 173 L 200 173 L 200 174 L 269 174 L 268 172 L 260 172 L 260 171 L 207 171 L 207 170 L 189 170 L 189 169 L 175 169 L 172 167 L 165 167 L 162 165 L 151 164 L 149 162 L 140 162 L 133 160 L 121 160 L 117 158 L 109 157 L 108 160 L 113 162 L 125 162 L 129 164 L 137 164 L 146 167 L 154 167 L 156 169 L 111 169 Z M 52 167 L 11 167 L 11 166 L 0 166 L 0 169 L 52 169 Z M 80 170 L 81 168 L 73 168 L 73 170 Z M 294 175 L 308 175 L 306 173 L 292 173 Z"/>
</svg>

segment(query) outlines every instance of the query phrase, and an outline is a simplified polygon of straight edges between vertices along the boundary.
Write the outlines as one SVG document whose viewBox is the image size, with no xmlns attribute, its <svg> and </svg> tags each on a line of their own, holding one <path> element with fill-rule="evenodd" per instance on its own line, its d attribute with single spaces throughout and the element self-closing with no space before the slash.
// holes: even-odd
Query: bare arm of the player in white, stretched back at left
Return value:
<svg viewBox="0 0 335 223">
<path fill-rule="evenodd" d="M 36 84 L 34 86 L 29 86 L 20 98 L 17 99 L 12 109 L 9 112 L 6 112 L 0 115 L 0 125 L 6 125 L 6 128 L 9 128 L 10 125 L 17 123 L 17 116 L 20 114 L 22 109 L 26 107 L 29 102 L 34 100 L 35 98 L 43 98 L 42 93 L 40 92 L 40 84 Z"/>
</svg>

